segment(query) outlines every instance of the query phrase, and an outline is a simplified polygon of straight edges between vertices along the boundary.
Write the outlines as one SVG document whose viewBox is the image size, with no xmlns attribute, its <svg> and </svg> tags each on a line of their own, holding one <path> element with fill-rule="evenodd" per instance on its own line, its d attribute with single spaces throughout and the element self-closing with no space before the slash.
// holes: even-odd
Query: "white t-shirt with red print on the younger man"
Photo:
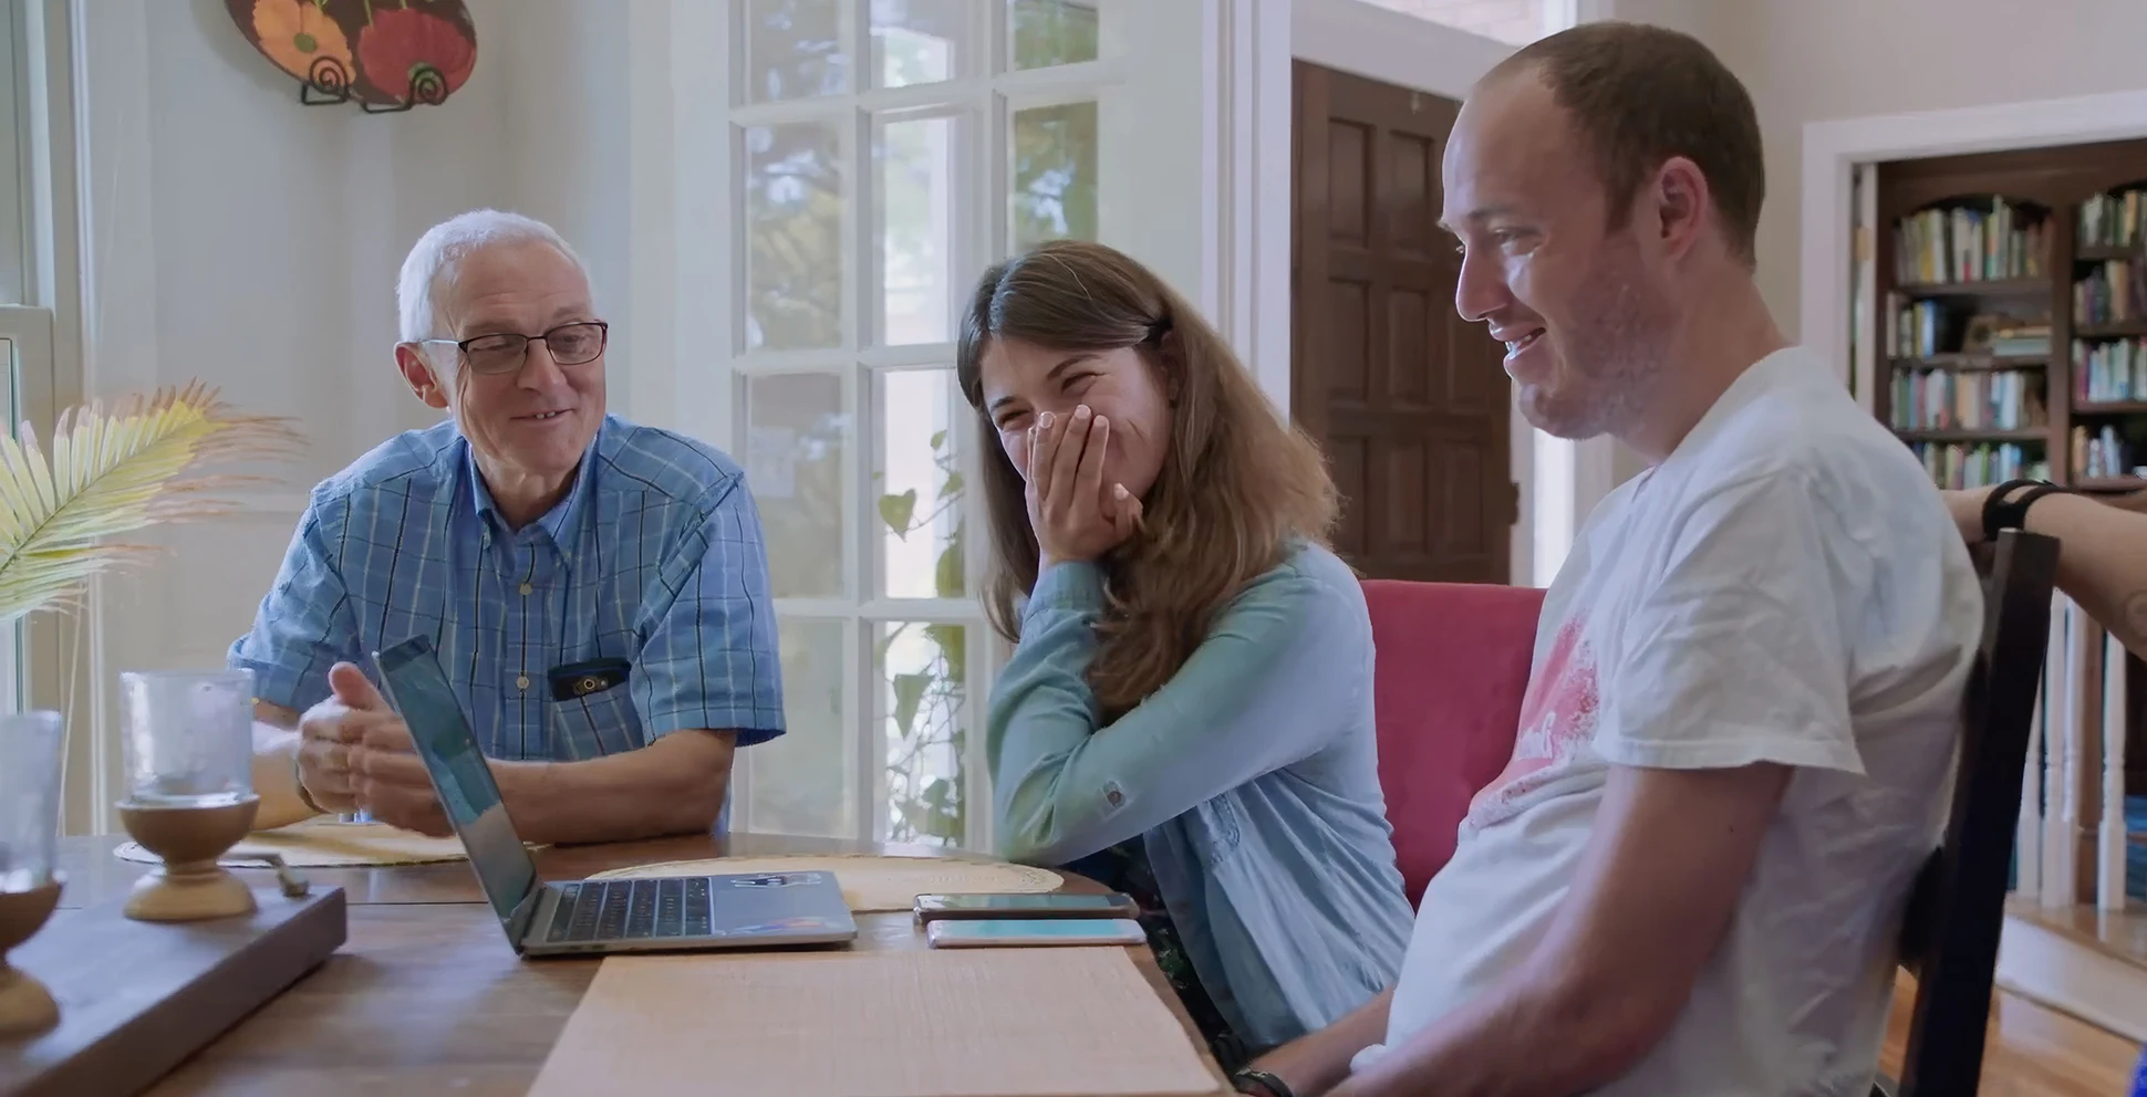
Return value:
<svg viewBox="0 0 2147 1097">
<path fill-rule="evenodd" d="M 1387 1043 L 1529 957 L 1610 766 L 1782 762 L 1728 934 L 1662 1043 L 1597 1093 L 1866 1097 L 1982 608 L 1909 449 L 1808 350 L 1756 363 L 1589 515 L 1550 584 L 1514 758 L 1423 889 Z"/>
</svg>

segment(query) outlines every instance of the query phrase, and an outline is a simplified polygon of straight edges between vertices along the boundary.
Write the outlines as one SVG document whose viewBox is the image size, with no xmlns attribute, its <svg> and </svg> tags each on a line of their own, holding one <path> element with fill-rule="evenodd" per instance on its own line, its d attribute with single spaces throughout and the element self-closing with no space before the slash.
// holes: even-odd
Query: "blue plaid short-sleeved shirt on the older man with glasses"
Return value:
<svg viewBox="0 0 2147 1097">
<path fill-rule="evenodd" d="M 573 489 L 522 530 L 453 421 L 382 442 L 313 489 L 253 631 L 262 700 L 305 711 L 328 668 L 417 633 L 492 758 L 580 760 L 681 730 L 784 732 L 760 513 L 745 472 L 608 416 Z M 552 700 L 552 668 L 627 659 L 625 685 Z"/>
</svg>

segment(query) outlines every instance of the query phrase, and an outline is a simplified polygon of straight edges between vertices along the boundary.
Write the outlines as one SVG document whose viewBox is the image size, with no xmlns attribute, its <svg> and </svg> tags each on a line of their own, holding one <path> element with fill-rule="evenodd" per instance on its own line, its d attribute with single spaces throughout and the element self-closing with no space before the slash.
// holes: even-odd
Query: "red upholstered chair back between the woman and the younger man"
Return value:
<svg viewBox="0 0 2147 1097">
<path fill-rule="evenodd" d="M 1514 754 L 1529 689 L 1535 618 L 1531 586 L 1365 580 L 1378 670 L 1378 784 L 1393 822 L 1408 902 L 1454 857 L 1469 799 Z"/>
</svg>

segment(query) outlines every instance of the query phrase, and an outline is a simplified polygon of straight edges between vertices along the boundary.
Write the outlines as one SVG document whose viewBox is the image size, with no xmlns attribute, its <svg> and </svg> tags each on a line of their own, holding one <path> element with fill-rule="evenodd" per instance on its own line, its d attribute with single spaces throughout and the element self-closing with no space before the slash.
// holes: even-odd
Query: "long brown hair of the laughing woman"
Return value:
<svg viewBox="0 0 2147 1097">
<path fill-rule="evenodd" d="M 1275 414 L 1222 335 L 1121 251 L 1054 240 L 977 281 L 955 363 L 981 438 L 998 434 L 981 371 L 994 339 L 1050 350 L 1136 348 L 1172 395 L 1170 449 L 1140 500 L 1142 530 L 1099 560 L 1106 612 L 1089 687 L 1114 719 L 1179 672 L 1215 612 L 1280 565 L 1292 539 L 1327 543 L 1335 487 L 1318 447 Z M 1020 470 L 1001 447 L 988 449 L 992 573 L 983 601 L 992 627 L 1018 640 L 1016 601 L 1037 586 L 1037 535 Z"/>
</svg>

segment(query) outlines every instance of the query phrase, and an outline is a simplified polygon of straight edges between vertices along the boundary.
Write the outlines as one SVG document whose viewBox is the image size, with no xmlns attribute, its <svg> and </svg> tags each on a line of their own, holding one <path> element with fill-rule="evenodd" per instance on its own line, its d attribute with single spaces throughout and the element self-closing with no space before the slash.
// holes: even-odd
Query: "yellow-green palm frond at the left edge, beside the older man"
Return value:
<svg viewBox="0 0 2147 1097">
<path fill-rule="evenodd" d="M 232 513 L 217 494 L 268 477 L 202 474 L 217 462 L 290 455 L 286 419 L 238 414 L 202 382 L 60 412 L 52 455 L 24 423 L 0 434 L 0 623 L 73 605 L 88 582 L 155 554 L 114 541 L 165 522 Z"/>
</svg>

